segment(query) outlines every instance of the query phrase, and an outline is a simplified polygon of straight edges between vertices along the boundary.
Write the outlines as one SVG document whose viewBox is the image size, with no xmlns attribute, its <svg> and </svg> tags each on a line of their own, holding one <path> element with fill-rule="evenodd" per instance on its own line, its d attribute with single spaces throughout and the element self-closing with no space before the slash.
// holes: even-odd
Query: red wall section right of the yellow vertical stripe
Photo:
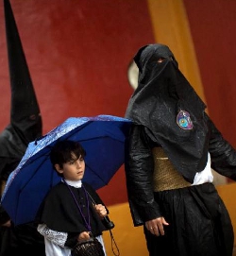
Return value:
<svg viewBox="0 0 236 256">
<path fill-rule="evenodd" d="M 184 0 L 211 119 L 236 147 L 236 1 Z"/>
</svg>

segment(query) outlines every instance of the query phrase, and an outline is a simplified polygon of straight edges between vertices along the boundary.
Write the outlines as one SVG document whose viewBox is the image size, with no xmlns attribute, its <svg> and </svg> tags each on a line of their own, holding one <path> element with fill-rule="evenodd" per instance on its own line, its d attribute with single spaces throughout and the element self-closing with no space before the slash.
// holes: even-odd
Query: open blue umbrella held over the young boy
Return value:
<svg viewBox="0 0 236 256">
<path fill-rule="evenodd" d="M 59 140 L 79 142 L 87 152 L 83 181 L 95 190 L 107 185 L 125 161 L 125 141 L 131 121 L 112 115 L 71 117 L 31 142 L 10 174 L 1 203 L 15 225 L 34 220 L 43 197 L 59 178 L 49 154 Z"/>
</svg>

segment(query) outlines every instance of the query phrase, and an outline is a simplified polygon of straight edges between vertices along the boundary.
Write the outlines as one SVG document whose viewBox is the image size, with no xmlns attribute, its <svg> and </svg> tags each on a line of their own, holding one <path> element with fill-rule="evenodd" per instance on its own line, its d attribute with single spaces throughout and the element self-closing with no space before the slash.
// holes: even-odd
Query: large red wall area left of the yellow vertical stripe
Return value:
<svg viewBox="0 0 236 256">
<path fill-rule="evenodd" d="M 132 94 L 127 65 L 139 47 L 154 41 L 144 0 L 139 5 L 135 0 L 10 3 L 42 110 L 43 133 L 70 116 L 124 116 Z M 10 99 L 3 13 L 1 4 L 1 129 L 8 125 Z M 99 193 L 107 204 L 126 201 L 123 167 Z"/>
</svg>

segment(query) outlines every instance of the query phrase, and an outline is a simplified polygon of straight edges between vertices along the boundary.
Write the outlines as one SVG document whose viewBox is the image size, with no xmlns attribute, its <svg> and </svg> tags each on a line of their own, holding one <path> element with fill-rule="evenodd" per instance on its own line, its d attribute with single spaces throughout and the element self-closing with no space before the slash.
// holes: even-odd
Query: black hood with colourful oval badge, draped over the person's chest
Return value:
<svg viewBox="0 0 236 256">
<path fill-rule="evenodd" d="M 203 120 L 206 106 L 166 45 L 145 45 L 134 60 L 139 83 L 128 102 L 126 118 L 143 125 L 177 171 L 192 183 L 208 159 L 208 128 Z"/>
</svg>

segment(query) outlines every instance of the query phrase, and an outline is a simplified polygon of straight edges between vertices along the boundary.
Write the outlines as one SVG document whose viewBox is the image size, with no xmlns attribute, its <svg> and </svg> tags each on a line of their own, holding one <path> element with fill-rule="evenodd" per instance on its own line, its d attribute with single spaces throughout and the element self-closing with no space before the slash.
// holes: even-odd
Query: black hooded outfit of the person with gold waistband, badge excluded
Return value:
<svg viewBox="0 0 236 256">
<path fill-rule="evenodd" d="M 152 148 L 161 146 L 190 183 L 205 168 L 208 153 L 215 171 L 236 180 L 236 150 L 214 126 L 205 104 L 178 70 L 166 45 L 146 45 L 134 60 L 139 67 L 139 84 L 126 109 L 133 126 L 125 162 L 133 223 L 144 225 L 160 216 L 169 223 L 160 237 L 144 227 L 150 256 L 231 256 L 232 225 L 213 184 L 154 192 Z M 179 111 L 190 113 L 192 128 L 177 125 Z"/>
</svg>

